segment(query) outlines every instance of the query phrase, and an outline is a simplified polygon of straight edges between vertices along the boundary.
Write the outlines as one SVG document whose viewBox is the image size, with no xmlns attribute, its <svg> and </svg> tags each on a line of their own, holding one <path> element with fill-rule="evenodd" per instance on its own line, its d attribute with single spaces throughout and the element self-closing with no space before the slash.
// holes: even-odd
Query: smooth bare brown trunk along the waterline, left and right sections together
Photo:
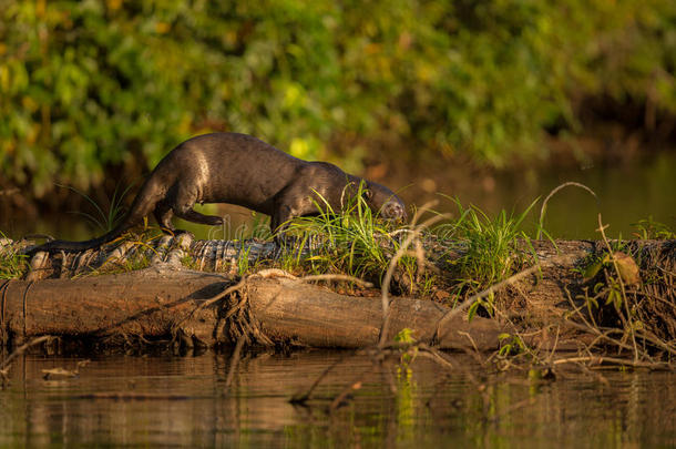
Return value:
<svg viewBox="0 0 676 449">
<path fill-rule="evenodd" d="M 227 341 L 219 330 L 219 305 L 198 306 L 232 282 L 217 274 L 148 268 L 76 279 L 12 280 L 4 292 L 3 327 L 17 343 L 39 335 L 164 338 L 178 331 L 195 344 Z M 363 347 L 378 341 L 379 298 L 339 295 L 286 278 L 256 278 L 247 298 L 260 330 L 273 343 L 314 347 Z M 393 298 L 390 337 L 403 327 L 429 341 L 447 307 L 429 300 Z M 439 333 L 442 348 L 498 347 L 500 325 L 458 317 Z"/>
</svg>

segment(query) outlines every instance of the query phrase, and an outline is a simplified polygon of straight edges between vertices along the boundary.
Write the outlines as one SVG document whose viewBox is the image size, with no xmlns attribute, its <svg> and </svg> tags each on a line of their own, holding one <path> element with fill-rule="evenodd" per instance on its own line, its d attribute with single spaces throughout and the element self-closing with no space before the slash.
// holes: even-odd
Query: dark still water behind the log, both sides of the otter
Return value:
<svg viewBox="0 0 676 449">
<path fill-rule="evenodd" d="M 602 213 L 608 224 L 608 237 L 632 238 L 636 231 L 632 224 L 652 216 L 672 228 L 676 228 L 676 150 L 656 153 L 652 157 L 636 159 L 619 165 L 587 165 L 577 167 L 544 167 L 529 171 L 509 171 L 496 174 L 465 174 L 458 177 L 458 169 L 445 167 L 440 161 L 436 167 L 418 167 L 406 175 L 390 178 L 386 173 L 379 181 L 400 190 L 410 206 L 422 206 L 437 200 L 438 211 L 458 216 L 452 201 L 440 194 L 458 197 L 463 206 L 477 205 L 490 216 L 500 211 L 523 212 L 534 200 L 540 202 L 524 221 L 525 229 L 534 235 L 542 200 L 557 185 L 574 181 L 592 188 L 598 202 L 587 192 L 566 187 L 549 203 L 545 229 L 555 238 L 601 238 L 597 214 Z M 444 170 L 449 170 L 447 175 Z M 452 173 L 455 173 L 453 175 Z M 72 195 L 75 195 L 72 193 Z M 86 204 L 85 204 L 86 206 Z M 106 207 L 102 204 L 102 207 Z M 193 232 L 198 238 L 240 238 L 250 235 L 255 223 L 264 216 L 253 218 L 243 207 L 215 205 L 197 206 L 207 213 L 225 216 L 226 226 L 204 226 L 175 220 L 180 228 Z M 85 239 L 103 232 L 88 223 L 79 213 L 96 215 L 93 208 L 64 211 L 57 216 L 40 216 L 27 221 L 20 216 L 0 216 L 0 231 L 12 238 L 31 233 L 47 233 L 59 238 Z M 265 224 L 264 224 L 265 226 Z"/>
</svg>

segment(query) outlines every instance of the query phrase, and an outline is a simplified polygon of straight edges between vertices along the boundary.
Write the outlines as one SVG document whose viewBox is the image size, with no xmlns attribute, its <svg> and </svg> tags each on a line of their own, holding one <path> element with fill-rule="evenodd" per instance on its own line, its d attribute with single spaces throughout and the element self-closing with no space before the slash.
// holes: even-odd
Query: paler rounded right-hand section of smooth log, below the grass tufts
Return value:
<svg viewBox="0 0 676 449">
<path fill-rule="evenodd" d="M 265 333 L 274 340 L 291 340 L 315 347 L 365 347 L 378 343 L 382 306 L 377 297 L 350 297 L 290 279 L 255 280 L 249 302 Z M 255 299 L 254 299 L 255 298 Z M 430 300 L 396 297 L 390 305 L 388 339 L 403 328 L 413 338 L 430 343 L 448 307 Z M 502 327 L 498 322 L 465 314 L 439 329 L 443 349 L 498 348 Z"/>
</svg>

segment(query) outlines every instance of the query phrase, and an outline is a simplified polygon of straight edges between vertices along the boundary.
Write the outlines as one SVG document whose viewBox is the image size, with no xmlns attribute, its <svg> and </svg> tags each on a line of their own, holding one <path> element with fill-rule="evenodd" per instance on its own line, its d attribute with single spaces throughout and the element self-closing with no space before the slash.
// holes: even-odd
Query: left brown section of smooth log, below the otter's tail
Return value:
<svg viewBox="0 0 676 449">
<path fill-rule="evenodd" d="M 229 284 L 221 275 L 157 267 L 75 279 L 11 280 L 2 296 L 3 329 L 14 340 L 38 335 L 166 337 L 196 304 Z M 198 310 L 185 329 L 209 341 L 214 320 L 213 310 Z"/>
</svg>

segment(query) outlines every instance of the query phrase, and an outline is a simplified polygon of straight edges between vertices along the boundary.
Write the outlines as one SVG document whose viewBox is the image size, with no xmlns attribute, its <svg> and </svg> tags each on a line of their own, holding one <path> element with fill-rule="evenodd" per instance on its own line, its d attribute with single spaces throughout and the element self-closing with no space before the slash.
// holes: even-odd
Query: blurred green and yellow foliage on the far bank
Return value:
<svg viewBox="0 0 676 449">
<path fill-rule="evenodd" d="M 675 24 L 673 0 L 0 0 L 0 188 L 86 190 L 212 130 L 501 165 L 588 98 L 676 114 Z"/>
</svg>

